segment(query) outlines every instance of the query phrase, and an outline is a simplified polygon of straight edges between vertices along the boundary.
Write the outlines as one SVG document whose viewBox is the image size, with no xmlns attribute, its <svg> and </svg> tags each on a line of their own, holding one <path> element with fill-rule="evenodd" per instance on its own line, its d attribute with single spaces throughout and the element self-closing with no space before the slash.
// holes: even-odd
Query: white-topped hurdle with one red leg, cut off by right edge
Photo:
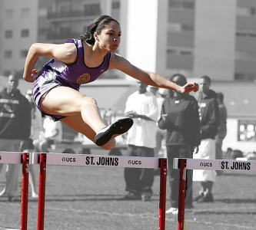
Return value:
<svg viewBox="0 0 256 230">
<path fill-rule="evenodd" d="M 187 169 L 203 170 L 231 170 L 231 171 L 256 171 L 254 160 L 233 159 L 185 159 L 175 158 L 173 168 L 180 170 L 179 195 L 178 195 L 178 222 L 177 230 L 184 230 L 185 225 L 185 190 Z"/>
</svg>

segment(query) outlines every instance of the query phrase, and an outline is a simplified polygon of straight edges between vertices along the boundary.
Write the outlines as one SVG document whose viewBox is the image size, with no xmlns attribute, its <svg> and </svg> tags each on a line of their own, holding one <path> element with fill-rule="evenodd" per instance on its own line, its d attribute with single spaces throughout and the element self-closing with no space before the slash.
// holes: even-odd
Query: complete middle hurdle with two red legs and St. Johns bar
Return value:
<svg viewBox="0 0 256 230">
<path fill-rule="evenodd" d="M 45 178 L 47 165 L 160 169 L 158 230 L 165 230 L 167 158 L 70 153 L 32 153 L 32 163 L 39 164 L 37 230 L 44 230 L 45 225 Z"/>
</svg>

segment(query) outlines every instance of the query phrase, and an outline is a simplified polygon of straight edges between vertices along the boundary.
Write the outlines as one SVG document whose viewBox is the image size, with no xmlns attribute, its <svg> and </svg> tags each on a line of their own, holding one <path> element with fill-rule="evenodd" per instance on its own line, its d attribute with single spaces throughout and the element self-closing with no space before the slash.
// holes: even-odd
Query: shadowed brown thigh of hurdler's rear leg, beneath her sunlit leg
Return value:
<svg viewBox="0 0 256 230">
<path fill-rule="evenodd" d="M 81 118 L 81 114 L 75 116 L 64 117 L 61 119 L 62 123 L 71 127 L 72 130 L 82 133 L 88 137 L 92 142 L 95 142 L 95 131 L 88 126 Z"/>
</svg>

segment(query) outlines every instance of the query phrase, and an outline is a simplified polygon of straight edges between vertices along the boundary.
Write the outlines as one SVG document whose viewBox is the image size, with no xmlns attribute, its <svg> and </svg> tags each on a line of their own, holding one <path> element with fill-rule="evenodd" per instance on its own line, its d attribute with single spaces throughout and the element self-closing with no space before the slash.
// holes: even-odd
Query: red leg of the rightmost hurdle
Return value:
<svg viewBox="0 0 256 230">
<path fill-rule="evenodd" d="M 187 159 L 179 159 L 180 184 L 178 192 L 178 225 L 177 230 L 184 230 L 185 194 L 187 180 Z"/>
</svg>

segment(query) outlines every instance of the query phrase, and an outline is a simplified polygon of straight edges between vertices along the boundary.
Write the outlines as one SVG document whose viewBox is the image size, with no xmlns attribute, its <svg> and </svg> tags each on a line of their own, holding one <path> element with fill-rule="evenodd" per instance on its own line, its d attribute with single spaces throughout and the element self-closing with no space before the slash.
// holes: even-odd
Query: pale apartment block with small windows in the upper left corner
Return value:
<svg viewBox="0 0 256 230">
<path fill-rule="evenodd" d="M 38 39 L 38 1 L 0 1 L 0 75 L 24 67 L 28 48 Z"/>
</svg>

